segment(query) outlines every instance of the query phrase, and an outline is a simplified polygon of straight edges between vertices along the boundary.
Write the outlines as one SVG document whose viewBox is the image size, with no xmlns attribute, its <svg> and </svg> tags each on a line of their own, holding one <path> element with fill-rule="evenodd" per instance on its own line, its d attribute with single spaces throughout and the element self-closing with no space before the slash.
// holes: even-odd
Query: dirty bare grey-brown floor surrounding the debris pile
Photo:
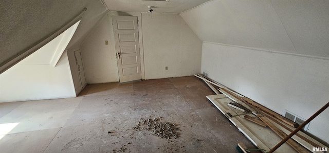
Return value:
<svg viewBox="0 0 329 153">
<path fill-rule="evenodd" d="M 207 100 L 213 94 L 190 76 L 88 84 L 76 98 L 0 103 L 0 152 L 237 152 L 237 142 L 255 148 Z M 177 124 L 179 138 L 133 130 L 141 118 Z"/>
</svg>

